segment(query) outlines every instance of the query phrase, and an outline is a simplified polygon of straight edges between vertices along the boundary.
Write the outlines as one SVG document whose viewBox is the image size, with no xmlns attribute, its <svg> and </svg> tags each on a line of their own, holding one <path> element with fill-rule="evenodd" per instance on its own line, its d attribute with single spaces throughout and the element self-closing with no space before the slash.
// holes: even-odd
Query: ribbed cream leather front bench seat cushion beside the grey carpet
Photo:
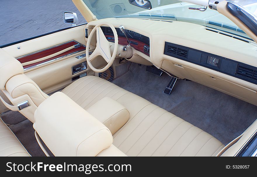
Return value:
<svg viewBox="0 0 257 177">
<path fill-rule="evenodd" d="M 203 130 L 96 76 L 80 78 L 62 92 L 84 109 L 103 97 L 122 104 L 130 117 L 114 133 L 113 145 L 128 156 L 215 156 L 224 147 Z"/>
</svg>

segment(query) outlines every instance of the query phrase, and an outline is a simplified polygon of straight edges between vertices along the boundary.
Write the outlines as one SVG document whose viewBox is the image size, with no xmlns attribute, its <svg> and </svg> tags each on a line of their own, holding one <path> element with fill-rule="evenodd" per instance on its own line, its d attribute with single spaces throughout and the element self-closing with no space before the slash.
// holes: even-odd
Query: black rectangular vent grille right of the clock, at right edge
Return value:
<svg viewBox="0 0 257 177">
<path fill-rule="evenodd" d="M 247 78 L 249 80 L 256 82 L 257 81 L 257 70 L 254 70 L 254 69 L 246 67 L 246 66 L 238 65 L 237 76 Z"/>
</svg>

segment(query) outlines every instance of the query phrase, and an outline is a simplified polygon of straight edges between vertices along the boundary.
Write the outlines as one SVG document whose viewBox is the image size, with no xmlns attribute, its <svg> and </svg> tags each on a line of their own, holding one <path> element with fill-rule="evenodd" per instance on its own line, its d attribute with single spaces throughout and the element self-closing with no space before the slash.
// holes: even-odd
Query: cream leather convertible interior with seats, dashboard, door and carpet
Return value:
<svg viewBox="0 0 257 177">
<path fill-rule="evenodd" d="M 257 36 L 244 24 L 233 20 L 249 38 L 97 19 L 73 2 L 88 23 L 0 48 L 0 156 L 242 152 L 257 129 Z M 217 4 L 235 18 L 227 7 Z"/>
</svg>

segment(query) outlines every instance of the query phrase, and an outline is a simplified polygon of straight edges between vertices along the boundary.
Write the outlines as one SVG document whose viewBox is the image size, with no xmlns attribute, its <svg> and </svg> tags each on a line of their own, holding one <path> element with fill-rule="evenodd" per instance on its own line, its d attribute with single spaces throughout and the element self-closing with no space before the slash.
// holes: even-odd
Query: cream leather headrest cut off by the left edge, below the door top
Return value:
<svg viewBox="0 0 257 177">
<path fill-rule="evenodd" d="M 5 89 L 5 84 L 14 75 L 23 74 L 21 63 L 10 56 L 6 51 L 0 49 L 0 89 Z"/>
</svg>

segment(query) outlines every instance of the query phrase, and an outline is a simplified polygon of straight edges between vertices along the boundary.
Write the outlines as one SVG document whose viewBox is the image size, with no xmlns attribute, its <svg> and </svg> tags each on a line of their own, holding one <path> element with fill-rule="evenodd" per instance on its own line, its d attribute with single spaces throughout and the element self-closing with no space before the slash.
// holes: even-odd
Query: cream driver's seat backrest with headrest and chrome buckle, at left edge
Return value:
<svg viewBox="0 0 257 177">
<path fill-rule="evenodd" d="M 0 49 L 0 89 L 13 105 L 28 101 L 29 106 L 19 110 L 21 114 L 34 122 L 34 112 L 48 95 L 24 74 L 21 63 Z"/>
</svg>

